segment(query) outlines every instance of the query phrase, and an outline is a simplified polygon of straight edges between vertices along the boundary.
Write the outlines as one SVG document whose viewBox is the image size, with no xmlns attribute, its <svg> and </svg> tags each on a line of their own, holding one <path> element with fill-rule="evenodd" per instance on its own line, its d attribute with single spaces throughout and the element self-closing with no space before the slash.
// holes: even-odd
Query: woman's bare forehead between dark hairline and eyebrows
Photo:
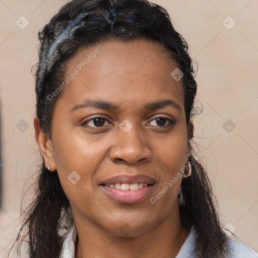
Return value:
<svg viewBox="0 0 258 258">
<path fill-rule="evenodd" d="M 119 96 L 123 103 L 170 96 L 182 105 L 182 80 L 171 76 L 176 68 L 178 64 L 170 53 L 156 42 L 99 43 L 81 48 L 68 62 L 64 79 L 73 79 L 64 95 L 70 102 L 78 102 L 86 95 L 109 101 Z"/>
</svg>

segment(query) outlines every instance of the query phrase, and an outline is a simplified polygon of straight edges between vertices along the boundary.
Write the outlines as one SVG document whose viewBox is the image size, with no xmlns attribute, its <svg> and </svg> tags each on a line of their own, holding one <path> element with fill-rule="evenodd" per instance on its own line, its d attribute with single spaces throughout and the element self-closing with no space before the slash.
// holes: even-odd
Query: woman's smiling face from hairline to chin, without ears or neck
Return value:
<svg viewBox="0 0 258 258">
<path fill-rule="evenodd" d="M 51 170 L 77 225 L 133 236 L 177 216 L 181 178 L 169 182 L 189 156 L 182 80 L 170 75 L 177 67 L 144 40 L 101 43 L 69 61 Z"/>
</svg>

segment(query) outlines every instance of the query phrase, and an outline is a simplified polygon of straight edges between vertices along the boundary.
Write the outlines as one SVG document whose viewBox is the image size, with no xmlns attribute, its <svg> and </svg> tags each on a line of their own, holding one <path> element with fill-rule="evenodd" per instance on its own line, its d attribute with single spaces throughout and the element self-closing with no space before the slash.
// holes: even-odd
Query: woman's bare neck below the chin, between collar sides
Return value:
<svg viewBox="0 0 258 258">
<path fill-rule="evenodd" d="M 74 218 L 78 233 L 76 258 L 175 258 L 189 232 L 182 227 L 176 207 L 158 225 L 138 236 L 117 236 L 89 222 L 81 227 L 79 218 Z"/>
</svg>

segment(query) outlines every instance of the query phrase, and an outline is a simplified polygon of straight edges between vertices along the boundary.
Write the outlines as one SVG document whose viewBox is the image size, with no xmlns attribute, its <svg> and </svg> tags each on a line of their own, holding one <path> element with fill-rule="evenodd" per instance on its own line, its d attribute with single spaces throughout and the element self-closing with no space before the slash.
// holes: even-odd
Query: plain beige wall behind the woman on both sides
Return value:
<svg viewBox="0 0 258 258">
<path fill-rule="evenodd" d="M 36 35 L 66 2 L 0 1 L 0 258 L 7 257 L 17 234 L 22 192 L 33 181 L 31 176 L 39 162 L 33 136 L 35 96 L 31 74 L 37 62 Z M 195 118 L 195 136 L 205 156 L 203 162 L 223 224 L 231 223 L 236 228 L 236 240 L 258 251 L 258 1 L 154 2 L 168 10 L 198 62 L 198 100 L 203 113 Z M 24 30 L 16 25 L 21 16 L 29 21 Z M 225 20 L 228 16 L 233 20 Z M 234 21 L 236 25 L 228 29 L 223 21 L 228 28 Z M 29 126 L 24 132 L 17 128 L 22 119 Z M 228 119 L 231 124 L 224 127 L 231 132 L 223 127 Z"/>
</svg>

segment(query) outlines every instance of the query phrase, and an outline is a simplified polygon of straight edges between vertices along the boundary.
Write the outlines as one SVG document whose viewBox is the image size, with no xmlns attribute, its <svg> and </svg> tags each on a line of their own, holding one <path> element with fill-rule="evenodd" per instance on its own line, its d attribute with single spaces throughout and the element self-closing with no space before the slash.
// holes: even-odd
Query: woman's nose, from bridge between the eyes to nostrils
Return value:
<svg viewBox="0 0 258 258">
<path fill-rule="evenodd" d="M 114 163 L 136 164 L 151 160 L 152 152 L 145 144 L 145 139 L 133 128 L 127 133 L 118 130 L 109 152 L 109 157 Z"/>
</svg>

